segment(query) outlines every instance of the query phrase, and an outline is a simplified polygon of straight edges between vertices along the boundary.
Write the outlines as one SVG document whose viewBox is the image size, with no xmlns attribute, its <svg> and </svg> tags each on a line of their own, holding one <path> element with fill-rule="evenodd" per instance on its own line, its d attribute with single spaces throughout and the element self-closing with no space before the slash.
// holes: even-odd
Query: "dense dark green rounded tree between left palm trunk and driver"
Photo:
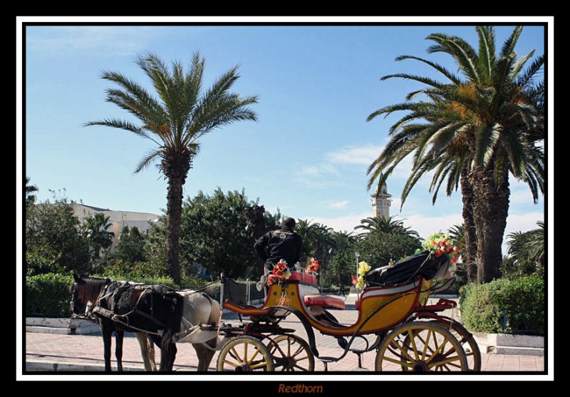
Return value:
<svg viewBox="0 0 570 397">
<path fill-rule="evenodd" d="M 244 190 L 213 195 L 200 191 L 182 205 L 180 257 L 187 264 L 197 262 L 217 277 L 257 277 L 255 239 L 246 230 L 247 205 Z"/>
</svg>

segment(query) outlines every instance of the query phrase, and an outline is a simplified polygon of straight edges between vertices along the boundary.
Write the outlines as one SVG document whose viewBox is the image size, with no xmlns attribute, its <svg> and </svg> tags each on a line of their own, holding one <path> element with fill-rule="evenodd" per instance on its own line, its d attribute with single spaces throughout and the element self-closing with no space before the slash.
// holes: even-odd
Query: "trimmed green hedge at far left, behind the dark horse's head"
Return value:
<svg viewBox="0 0 570 397">
<path fill-rule="evenodd" d="M 67 274 L 38 274 L 26 277 L 26 316 L 69 317 L 73 277 Z"/>
</svg>

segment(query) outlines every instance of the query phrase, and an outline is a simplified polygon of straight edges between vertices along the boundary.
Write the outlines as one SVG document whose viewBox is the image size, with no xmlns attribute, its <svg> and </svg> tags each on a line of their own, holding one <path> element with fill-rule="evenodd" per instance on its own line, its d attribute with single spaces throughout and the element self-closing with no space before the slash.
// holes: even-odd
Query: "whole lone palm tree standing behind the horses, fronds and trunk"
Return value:
<svg viewBox="0 0 570 397">
<path fill-rule="evenodd" d="M 257 120 L 257 115 L 247 107 L 257 103 L 257 97 L 241 97 L 229 92 L 239 78 L 237 66 L 222 74 L 204 91 L 205 61 L 199 53 L 192 56 L 187 71 L 179 61 L 172 62 L 169 69 L 150 53 L 139 55 L 136 63 L 150 78 L 158 98 L 120 73 L 105 71 L 102 78 L 120 87 L 106 91 L 108 102 L 127 110 L 140 124 L 113 118 L 86 125 L 126 130 L 155 143 L 155 149 L 142 158 L 135 173 L 160 160 L 158 169 L 168 183 L 167 274 L 180 284 L 182 187 L 199 151 L 199 139 L 236 121 Z"/>
</svg>

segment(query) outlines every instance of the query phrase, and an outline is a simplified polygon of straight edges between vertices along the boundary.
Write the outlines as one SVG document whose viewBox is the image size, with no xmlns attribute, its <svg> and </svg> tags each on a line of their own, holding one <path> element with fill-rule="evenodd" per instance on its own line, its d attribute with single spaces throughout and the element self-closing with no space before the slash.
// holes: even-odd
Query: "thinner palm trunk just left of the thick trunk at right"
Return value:
<svg viewBox="0 0 570 397">
<path fill-rule="evenodd" d="M 461 195 L 463 200 L 463 223 L 465 232 L 465 252 L 462 253 L 463 264 L 467 272 L 467 281 L 477 281 L 477 232 L 473 220 L 473 187 L 467 177 L 467 172 L 462 172 Z"/>
</svg>

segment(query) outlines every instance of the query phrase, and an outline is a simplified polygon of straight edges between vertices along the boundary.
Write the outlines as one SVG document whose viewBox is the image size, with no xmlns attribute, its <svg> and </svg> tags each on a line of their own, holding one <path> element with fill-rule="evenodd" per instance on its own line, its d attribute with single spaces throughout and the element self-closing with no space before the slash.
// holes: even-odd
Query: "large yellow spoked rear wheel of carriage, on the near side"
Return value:
<svg viewBox="0 0 570 397">
<path fill-rule="evenodd" d="M 450 331 L 433 322 L 396 327 L 378 347 L 376 371 L 467 371 L 467 356 Z"/>
</svg>

